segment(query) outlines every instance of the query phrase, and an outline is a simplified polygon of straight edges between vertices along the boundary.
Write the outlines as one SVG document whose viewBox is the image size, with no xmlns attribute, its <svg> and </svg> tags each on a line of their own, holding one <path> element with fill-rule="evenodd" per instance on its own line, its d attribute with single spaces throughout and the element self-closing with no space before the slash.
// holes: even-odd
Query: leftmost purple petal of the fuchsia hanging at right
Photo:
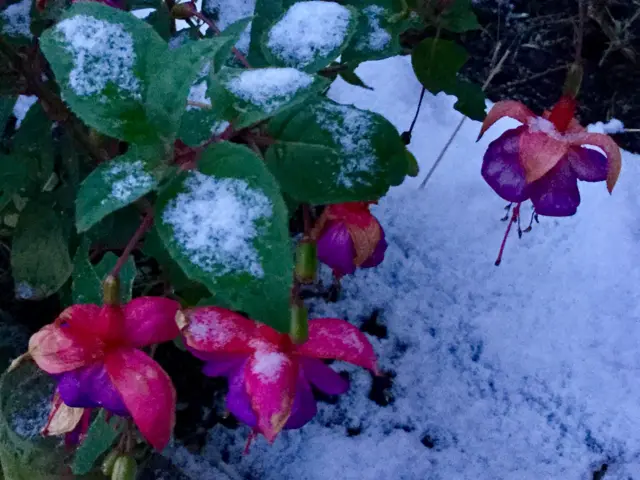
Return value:
<svg viewBox="0 0 640 480">
<path fill-rule="evenodd" d="M 527 127 L 507 130 L 489 144 L 482 161 L 482 177 L 508 202 L 529 198 L 524 168 L 520 164 L 520 134 Z"/>
</svg>

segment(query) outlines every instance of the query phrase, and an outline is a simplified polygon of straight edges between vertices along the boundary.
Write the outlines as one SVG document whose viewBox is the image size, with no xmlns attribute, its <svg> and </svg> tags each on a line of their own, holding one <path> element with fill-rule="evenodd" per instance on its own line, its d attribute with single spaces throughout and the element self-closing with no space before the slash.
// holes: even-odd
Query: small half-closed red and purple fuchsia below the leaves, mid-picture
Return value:
<svg viewBox="0 0 640 480">
<path fill-rule="evenodd" d="M 384 230 L 365 202 L 329 205 L 312 236 L 317 240 L 318 258 L 338 278 L 352 274 L 356 267 L 378 266 L 387 250 Z"/>
</svg>

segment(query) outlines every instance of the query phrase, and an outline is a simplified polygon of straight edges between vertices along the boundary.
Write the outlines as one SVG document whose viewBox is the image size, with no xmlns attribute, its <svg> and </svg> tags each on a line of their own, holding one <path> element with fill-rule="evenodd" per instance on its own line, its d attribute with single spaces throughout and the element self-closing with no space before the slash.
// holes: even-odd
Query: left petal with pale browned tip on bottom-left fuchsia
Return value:
<svg viewBox="0 0 640 480">
<path fill-rule="evenodd" d="M 46 325 L 29 339 L 29 353 L 47 373 L 63 373 L 88 365 L 103 355 L 104 344 L 70 328 Z"/>
</svg>

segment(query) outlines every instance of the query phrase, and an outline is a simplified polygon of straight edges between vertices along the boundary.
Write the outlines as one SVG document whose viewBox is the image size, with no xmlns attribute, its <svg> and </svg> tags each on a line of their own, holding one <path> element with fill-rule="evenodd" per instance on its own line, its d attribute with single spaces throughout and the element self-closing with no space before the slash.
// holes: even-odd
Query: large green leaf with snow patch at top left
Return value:
<svg viewBox="0 0 640 480">
<path fill-rule="evenodd" d="M 144 99 L 167 46 L 150 25 L 129 12 L 78 2 L 42 34 L 40 47 L 66 103 L 88 126 L 126 141 L 157 136 Z"/>
</svg>

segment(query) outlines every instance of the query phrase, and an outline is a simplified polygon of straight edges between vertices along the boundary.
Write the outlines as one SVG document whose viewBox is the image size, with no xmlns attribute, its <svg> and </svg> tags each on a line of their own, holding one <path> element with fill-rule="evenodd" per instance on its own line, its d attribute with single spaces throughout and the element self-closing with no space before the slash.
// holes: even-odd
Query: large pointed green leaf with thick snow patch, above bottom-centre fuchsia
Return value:
<svg viewBox="0 0 640 480">
<path fill-rule="evenodd" d="M 204 151 L 156 203 L 160 237 L 187 276 L 287 331 L 293 261 L 287 210 L 262 159 L 228 142 Z"/>
</svg>

